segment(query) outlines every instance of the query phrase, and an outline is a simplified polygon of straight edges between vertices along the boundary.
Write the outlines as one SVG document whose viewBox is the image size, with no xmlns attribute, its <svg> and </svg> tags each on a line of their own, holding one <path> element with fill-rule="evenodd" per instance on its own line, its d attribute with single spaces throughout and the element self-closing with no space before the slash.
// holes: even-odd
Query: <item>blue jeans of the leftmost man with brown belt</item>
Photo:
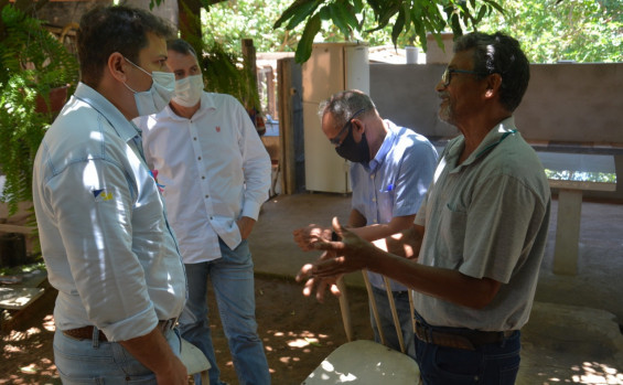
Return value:
<svg viewBox="0 0 623 385">
<path fill-rule="evenodd" d="M 175 355 L 180 356 L 178 330 L 169 330 L 164 336 Z M 64 385 L 157 383 L 153 372 L 119 343 L 76 340 L 61 330 L 54 333 L 54 363 Z"/>
</svg>

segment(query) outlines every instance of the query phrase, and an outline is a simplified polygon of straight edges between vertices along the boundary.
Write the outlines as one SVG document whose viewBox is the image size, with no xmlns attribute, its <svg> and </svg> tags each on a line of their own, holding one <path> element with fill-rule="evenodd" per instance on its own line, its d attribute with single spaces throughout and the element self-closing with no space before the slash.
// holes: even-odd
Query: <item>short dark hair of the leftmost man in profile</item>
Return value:
<svg viewBox="0 0 623 385">
<path fill-rule="evenodd" d="M 142 9 L 112 6 L 86 12 L 77 33 L 82 82 L 96 87 L 115 52 L 138 64 L 139 52 L 148 45 L 148 32 L 163 39 L 174 33 L 168 22 Z"/>
</svg>

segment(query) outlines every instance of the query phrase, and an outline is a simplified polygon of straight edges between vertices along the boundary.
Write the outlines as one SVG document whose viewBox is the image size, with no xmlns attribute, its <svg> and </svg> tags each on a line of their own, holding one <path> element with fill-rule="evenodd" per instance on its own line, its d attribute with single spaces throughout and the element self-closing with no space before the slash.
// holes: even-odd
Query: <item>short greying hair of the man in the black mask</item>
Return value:
<svg viewBox="0 0 623 385">
<path fill-rule="evenodd" d="M 331 113 L 335 124 L 345 125 L 346 120 L 356 113 L 361 111 L 357 116 L 363 117 L 374 110 L 376 110 L 376 106 L 369 96 L 358 89 L 350 89 L 334 94 L 322 101 L 318 115 L 322 118 L 324 114 Z"/>
</svg>

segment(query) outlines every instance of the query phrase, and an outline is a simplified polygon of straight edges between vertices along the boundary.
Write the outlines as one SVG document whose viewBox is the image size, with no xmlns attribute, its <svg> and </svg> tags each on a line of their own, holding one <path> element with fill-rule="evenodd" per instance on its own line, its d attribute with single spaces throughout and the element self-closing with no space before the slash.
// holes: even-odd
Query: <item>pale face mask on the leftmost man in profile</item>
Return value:
<svg viewBox="0 0 623 385">
<path fill-rule="evenodd" d="M 135 93 L 135 101 L 139 116 L 160 113 L 173 97 L 175 92 L 175 75 L 169 72 L 154 71 L 151 74 L 126 58 L 128 63 L 151 76 L 151 87 L 148 90 L 137 92 L 126 83 L 123 85 Z"/>
</svg>

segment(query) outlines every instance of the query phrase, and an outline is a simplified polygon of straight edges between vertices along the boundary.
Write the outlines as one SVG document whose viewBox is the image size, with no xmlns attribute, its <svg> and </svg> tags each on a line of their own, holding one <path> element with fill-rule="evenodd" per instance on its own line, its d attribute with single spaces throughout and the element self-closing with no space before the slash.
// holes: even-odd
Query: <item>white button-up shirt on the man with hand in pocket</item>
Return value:
<svg viewBox="0 0 623 385">
<path fill-rule="evenodd" d="M 241 242 L 236 221 L 257 221 L 270 188 L 270 158 L 243 105 L 204 92 L 191 119 L 167 106 L 136 122 L 184 263 L 221 258 L 218 237 L 236 248 Z"/>
</svg>

